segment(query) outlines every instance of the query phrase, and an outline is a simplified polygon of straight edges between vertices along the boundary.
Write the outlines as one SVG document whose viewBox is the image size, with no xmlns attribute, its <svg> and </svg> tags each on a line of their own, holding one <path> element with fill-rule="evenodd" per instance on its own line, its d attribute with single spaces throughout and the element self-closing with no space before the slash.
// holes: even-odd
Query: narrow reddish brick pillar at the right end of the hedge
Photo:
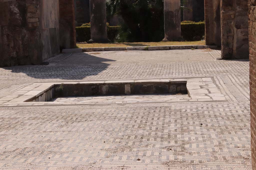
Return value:
<svg viewBox="0 0 256 170">
<path fill-rule="evenodd" d="M 221 46 L 220 0 L 205 0 L 205 43 Z"/>
</svg>

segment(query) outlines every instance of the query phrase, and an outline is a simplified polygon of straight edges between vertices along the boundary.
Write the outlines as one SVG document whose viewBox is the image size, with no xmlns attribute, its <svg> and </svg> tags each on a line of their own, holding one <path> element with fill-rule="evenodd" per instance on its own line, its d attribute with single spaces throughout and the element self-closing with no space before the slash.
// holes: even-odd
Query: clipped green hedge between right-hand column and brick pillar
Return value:
<svg viewBox="0 0 256 170">
<path fill-rule="evenodd" d="M 200 41 L 205 36 L 205 23 L 182 23 L 181 34 L 186 41 Z"/>
</svg>

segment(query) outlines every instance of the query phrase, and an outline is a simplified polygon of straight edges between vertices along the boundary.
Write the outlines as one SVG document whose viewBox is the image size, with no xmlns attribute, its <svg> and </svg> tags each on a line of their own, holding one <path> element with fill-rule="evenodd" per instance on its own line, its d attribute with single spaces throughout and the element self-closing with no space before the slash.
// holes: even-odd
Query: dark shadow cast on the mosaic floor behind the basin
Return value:
<svg viewBox="0 0 256 170">
<path fill-rule="evenodd" d="M 87 76 L 98 75 L 106 70 L 110 64 L 104 62 L 111 61 L 115 60 L 86 53 L 76 53 L 73 55 L 63 54 L 61 57 L 54 57 L 54 59 L 50 58 L 47 66 L 27 65 L 2 68 L 11 70 L 12 73 L 24 73 L 35 79 L 82 80 Z"/>
</svg>

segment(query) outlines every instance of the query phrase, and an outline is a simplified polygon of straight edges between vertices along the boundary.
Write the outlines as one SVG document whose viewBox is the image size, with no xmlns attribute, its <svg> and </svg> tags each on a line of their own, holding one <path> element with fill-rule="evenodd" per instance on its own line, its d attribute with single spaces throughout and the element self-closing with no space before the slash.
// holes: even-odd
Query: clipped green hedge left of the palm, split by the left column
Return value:
<svg viewBox="0 0 256 170">
<path fill-rule="evenodd" d="M 111 42 L 114 42 L 120 26 L 109 26 L 107 27 L 108 38 Z M 77 42 L 86 42 L 91 39 L 91 27 L 76 27 Z"/>
</svg>

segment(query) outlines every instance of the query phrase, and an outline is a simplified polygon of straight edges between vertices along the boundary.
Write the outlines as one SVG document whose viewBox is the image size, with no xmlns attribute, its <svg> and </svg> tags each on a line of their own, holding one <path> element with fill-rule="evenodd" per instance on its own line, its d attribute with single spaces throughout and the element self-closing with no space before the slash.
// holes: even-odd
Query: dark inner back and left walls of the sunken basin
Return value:
<svg viewBox="0 0 256 170">
<path fill-rule="evenodd" d="M 66 96 L 132 95 L 132 94 L 188 94 L 187 81 L 125 80 L 78 83 L 55 83 L 26 102 L 51 101 Z"/>
</svg>

